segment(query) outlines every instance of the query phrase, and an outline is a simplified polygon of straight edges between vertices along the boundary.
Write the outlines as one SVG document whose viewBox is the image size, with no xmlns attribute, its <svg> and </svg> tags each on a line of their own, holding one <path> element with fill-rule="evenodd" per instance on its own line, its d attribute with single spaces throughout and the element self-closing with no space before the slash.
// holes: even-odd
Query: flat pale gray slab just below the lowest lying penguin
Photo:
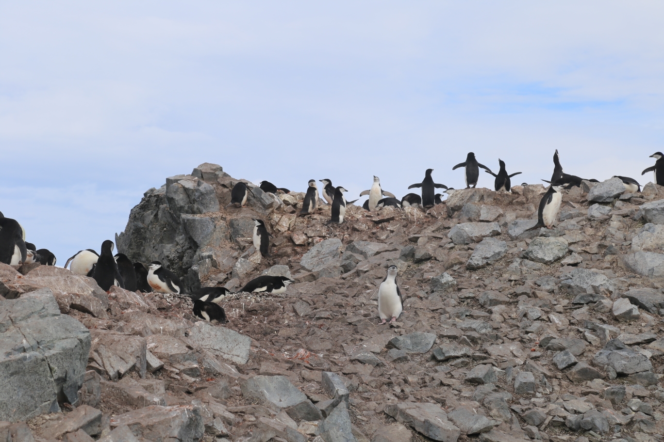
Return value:
<svg viewBox="0 0 664 442">
<path fill-rule="evenodd" d="M 249 360 L 251 338 L 227 329 L 198 321 L 191 327 L 187 339 L 212 353 L 236 364 L 246 364 Z"/>
</svg>

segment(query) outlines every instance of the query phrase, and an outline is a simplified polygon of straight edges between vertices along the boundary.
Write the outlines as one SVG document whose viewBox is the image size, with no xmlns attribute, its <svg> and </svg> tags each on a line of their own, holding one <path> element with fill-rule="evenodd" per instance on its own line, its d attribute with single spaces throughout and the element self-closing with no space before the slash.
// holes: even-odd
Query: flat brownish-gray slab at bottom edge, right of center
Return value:
<svg viewBox="0 0 664 442">
<path fill-rule="evenodd" d="M 438 404 L 400 402 L 389 404 L 385 412 L 434 441 L 456 442 L 461 435 L 461 429 L 448 420 Z"/>
</svg>

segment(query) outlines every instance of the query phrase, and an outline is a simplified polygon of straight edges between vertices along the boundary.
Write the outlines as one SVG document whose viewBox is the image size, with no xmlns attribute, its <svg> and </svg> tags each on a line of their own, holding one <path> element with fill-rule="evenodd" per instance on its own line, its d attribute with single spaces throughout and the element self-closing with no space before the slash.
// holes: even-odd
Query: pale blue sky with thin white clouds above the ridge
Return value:
<svg viewBox="0 0 664 442">
<path fill-rule="evenodd" d="M 463 188 L 471 151 L 537 183 L 557 148 L 569 174 L 645 184 L 662 28 L 655 1 L 0 0 L 0 211 L 64 265 L 203 162 L 354 199 L 427 168 Z"/>
</svg>

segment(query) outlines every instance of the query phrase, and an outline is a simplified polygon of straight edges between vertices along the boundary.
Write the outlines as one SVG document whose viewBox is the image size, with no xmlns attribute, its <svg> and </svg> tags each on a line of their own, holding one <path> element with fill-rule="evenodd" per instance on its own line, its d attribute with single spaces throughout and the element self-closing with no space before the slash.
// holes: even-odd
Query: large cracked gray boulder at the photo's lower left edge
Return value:
<svg viewBox="0 0 664 442">
<path fill-rule="evenodd" d="M 62 315 L 50 289 L 0 303 L 0 421 L 60 411 L 78 403 L 90 332 Z"/>
</svg>

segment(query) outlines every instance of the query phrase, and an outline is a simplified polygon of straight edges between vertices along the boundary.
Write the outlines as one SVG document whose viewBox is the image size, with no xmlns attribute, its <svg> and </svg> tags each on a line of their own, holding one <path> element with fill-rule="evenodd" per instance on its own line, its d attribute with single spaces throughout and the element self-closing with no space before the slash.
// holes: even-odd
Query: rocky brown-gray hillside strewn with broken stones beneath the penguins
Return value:
<svg viewBox="0 0 664 442">
<path fill-rule="evenodd" d="M 295 280 L 229 296 L 226 325 L 187 296 L 0 264 L 0 441 L 662 439 L 664 188 L 584 182 L 527 231 L 543 186 L 329 225 L 326 206 L 295 217 L 301 194 L 224 209 L 235 182 L 213 164 L 167 178 L 116 239 L 192 289 Z M 390 264 L 404 313 L 378 325 Z"/>
</svg>

